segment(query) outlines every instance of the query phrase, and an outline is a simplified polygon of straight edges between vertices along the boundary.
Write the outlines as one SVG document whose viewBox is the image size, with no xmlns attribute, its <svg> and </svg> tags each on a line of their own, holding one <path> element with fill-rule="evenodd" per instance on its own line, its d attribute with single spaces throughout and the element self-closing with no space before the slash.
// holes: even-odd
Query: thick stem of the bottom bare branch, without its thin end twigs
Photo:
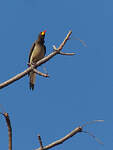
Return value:
<svg viewBox="0 0 113 150">
<path fill-rule="evenodd" d="M 70 132 L 69 134 L 67 134 L 66 136 L 64 136 L 63 138 L 47 145 L 47 146 L 44 146 L 43 147 L 43 150 L 47 150 L 47 149 L 50 149 L 52 147 L 55 147 L 59 144 L 62 144 L 64 141 L 68 140 L 69 138 L 71 138 L 72 136 L 74 136 L 75 134 L 79 133 L 79 132 L 82 132 L 82 128 L 81 127 L 77 127 L 75 128 L 72 132 Z M 36 150 L 41 150 L 41 148 L 38 148 Z"/>
</svg>

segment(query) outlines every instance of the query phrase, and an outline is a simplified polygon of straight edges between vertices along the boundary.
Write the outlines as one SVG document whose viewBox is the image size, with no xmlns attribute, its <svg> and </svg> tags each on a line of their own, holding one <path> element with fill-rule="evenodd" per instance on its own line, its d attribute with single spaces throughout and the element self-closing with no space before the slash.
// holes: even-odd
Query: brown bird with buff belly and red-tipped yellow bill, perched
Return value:
<svg viewBox="0 0 113 150">
<path fill-rule="evenodd" d="M 46 54 L 46 46 L 44 45 L 45 33 L 46 33 L 46 30 L 40 32 L 37 40 L 33 43 L 32 47 L 30 49 L 30 53 L 29 53 L 29 60 L 28 60 L 29 65 L 34 65 L 37 63 L 37 61 L 44 58 L 44 56 Z M 35 80 L 36 80 L 36 73 L 31 71 L 29 73 L 29 88 L 30 88 L 30 90 L 34 90 Z"/>
</svg>

